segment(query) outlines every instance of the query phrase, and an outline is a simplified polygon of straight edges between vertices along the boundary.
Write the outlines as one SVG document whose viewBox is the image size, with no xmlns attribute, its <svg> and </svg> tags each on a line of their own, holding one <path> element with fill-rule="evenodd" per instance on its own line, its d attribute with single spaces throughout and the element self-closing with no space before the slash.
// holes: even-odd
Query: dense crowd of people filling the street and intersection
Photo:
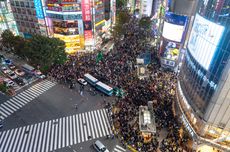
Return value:
<svg viewBox="0 0 230 152">
<path fill-rule="evenodd" d="M 176 76 L 172 72 L 161 69 L 154 47 L 146 43 L 149 32 L 140 28 L 138 19 L 130 17 L 123 25 L 125 30 L 121 39 L 114 39 L 112 51 L 104 54 L 100 62 L 96 62 L 97 53 L 77 54 L 70 56 L 64 65 L 55 65 L 49 76 L 60 83 L 74 84 L 85 73 L 90 73 L 102 82 L 126 91 L 124 98 L 119 98 L 115 107 L 119 109 L 113 115 L 116 132 L 125 145 L 132 145 L 138 151 L 180 151 L 179 128 L 174 118 L 172 103 L 175 100 Z M 149 77 L 138 79 L 136 58 L 145 51 L 151 51 L 151 63 L 148 65 Z M 139 130 L 138 107 L 147 105 L 148 101 L 156 100 L 154 113 L 156 115 L 157 133 L 153 134 L 151 142 L 144 143 Z M 167 137 L 159 143 L 159 131 L 167 128 Z"/>
</svg>

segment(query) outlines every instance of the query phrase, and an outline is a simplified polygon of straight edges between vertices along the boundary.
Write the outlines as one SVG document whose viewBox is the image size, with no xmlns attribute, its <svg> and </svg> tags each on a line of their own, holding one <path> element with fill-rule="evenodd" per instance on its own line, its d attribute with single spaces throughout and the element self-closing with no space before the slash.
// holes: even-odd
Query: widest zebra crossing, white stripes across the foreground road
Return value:
<svg viewBox="0 0 230 152">
<path fill-rule="evenodd" d="M 0 132 L 0 152 L 48 152 L 112 134 L 107 109 Z"/>
</svg>

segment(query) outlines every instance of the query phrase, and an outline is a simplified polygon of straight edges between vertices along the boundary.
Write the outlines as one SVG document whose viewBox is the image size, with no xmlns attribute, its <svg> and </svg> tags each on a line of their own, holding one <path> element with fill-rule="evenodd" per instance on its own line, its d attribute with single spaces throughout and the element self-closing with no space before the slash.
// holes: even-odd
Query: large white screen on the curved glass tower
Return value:
<svg viewBox="0 0 230 152">
<path fill-rule="evenodd" d="M 196 14 L 188 49 L 195 60 L 206 70 L 209 69 L 224 27 Z"/>
</svg>

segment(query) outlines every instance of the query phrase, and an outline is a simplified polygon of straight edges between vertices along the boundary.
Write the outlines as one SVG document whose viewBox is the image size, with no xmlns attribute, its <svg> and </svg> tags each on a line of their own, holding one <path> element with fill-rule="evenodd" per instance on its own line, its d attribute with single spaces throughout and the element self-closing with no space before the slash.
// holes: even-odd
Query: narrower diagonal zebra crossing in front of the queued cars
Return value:
<svg viewBox="0 0 230 152">
<path fill-rule="evenodd" d="M 56 85 L 55 82 L 51 82 L 48 80 L 41 81 L 33 85 L 29 89 L 17 94 L 6 102 L 2 103 L 0 105 L 0 119 L 3 120 L 7 118 L 54 85 Z"/>
</svg>

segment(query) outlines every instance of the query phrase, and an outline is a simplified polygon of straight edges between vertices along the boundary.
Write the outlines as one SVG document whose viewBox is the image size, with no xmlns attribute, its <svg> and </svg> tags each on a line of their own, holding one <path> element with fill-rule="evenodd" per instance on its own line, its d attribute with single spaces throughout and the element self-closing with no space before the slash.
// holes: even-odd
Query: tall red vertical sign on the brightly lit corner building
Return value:
<svg viewBox="0 0 230 152">
<path fill-rule="evenodd" d="M 91 25 L 90 0 L 82 0 L 81 6 L 82 6 L 82 18 L 84 21 L 85 44 L 91 45 L 93 42 L 93 33 L 92 33 L 92 25 Z"/>
</svg>

